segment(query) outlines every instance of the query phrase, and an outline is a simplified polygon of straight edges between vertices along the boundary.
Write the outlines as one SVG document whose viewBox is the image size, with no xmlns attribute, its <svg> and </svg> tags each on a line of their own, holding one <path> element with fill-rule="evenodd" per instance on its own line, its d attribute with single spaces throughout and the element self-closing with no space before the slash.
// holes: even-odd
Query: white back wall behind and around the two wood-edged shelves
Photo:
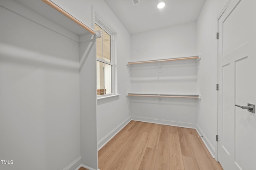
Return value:
<svg viewBox="0 0 256 170">
<path fill-rule="evenodd" d="M 196 22 L 133 34 L 131 61 L 189 57 L 197 54 Z M 196 59 L 134 64 L 128 67 L 132 93 L 195 94 Z M 134 120 L 195 127 L 198 99 L 129 97 Z M 159 102 L 161 104 L 159 104 Z"/>
</svg>

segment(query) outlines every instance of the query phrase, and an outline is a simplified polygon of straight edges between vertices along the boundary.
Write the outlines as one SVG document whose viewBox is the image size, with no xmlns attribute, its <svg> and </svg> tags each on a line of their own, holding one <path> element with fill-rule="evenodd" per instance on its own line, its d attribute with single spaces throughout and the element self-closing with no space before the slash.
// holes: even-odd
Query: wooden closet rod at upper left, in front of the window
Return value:
<svg viewBox="0 0 256 170">
<path fill-rule="evenodd" d="M 79 20 L 77 20 L 76 18 L 74 18 L 74 16 L 70 15 L 68 12 L 66 12 L 65 10 L 63 10 L 62 8 L 60 8 L 58 5 L 54 4 L 52 1 L 50 0 L 42 0 L 43 2 L 45 2 L 46 4 L 50 5 L 52 8 L 54 8 L 55 10 L 57 10 L 58 12 L 64 14 L 66 17 L 68 17 L 70 20 L 74 21 L 76 24 L 80 25 L 82 28 L 86 29 L 88 32 L 90 32 L 91 34 L 93 34 L 94 36 L 96 35 L 96 32 L 94 32 L 92 29 L 90 29 L 88 26 L 84 25 L 82 22 L 80 22 Z"/>
</svg>

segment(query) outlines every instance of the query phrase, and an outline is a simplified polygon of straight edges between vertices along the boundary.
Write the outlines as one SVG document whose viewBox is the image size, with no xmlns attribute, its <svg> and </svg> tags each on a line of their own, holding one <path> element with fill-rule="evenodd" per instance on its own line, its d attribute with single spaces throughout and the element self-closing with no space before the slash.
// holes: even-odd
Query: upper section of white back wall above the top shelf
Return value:
<svg viewBox="0 0 256 170">
<path fill-rule="evenodd" d="M 196 22 L 132 34 L 132 61 L 187 57 L 196 51 Z"/>
</svg>

